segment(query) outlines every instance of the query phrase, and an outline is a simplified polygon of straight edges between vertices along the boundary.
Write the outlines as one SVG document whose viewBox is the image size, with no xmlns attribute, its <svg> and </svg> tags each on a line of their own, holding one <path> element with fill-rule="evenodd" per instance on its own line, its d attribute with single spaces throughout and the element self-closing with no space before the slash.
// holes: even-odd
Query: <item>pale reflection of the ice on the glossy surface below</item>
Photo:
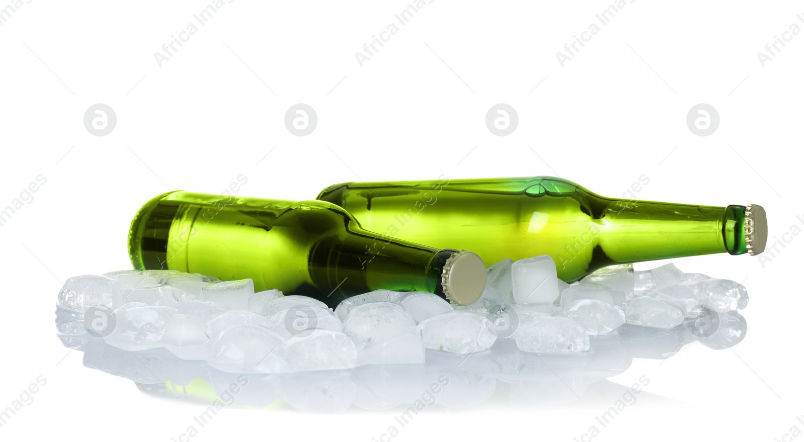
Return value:
<svg viewBox="0 0 804 442">
<path fill-rule="evenodd" d="M 57 330 L 64 345 L 84 352 L 84 366 L 129 378 L 146 394 L 212 407 L 312 413 L 396 410 L 394 419 L 401 424 L 416 414 L 411 410 L 425 408 L 544 407 L 587 397 L 616 399 L 626 387 L 606 379 L 624 373 L 634 358 L 665 359 L 695 341 L 712 349 L 740 342 L 745 318 L 736 312 L 722 315 L 719 328 L 707 337 L 691 333 L 693 324 L 671 330 L 626 324 L 616 333 L 592 337 L 592 350 L 586 353 L 523 353 L 515 341 L 498 339 L 491 349 L 470 355 L 427 350 L 425 364 L 291 374 L 225 373 L 165 349 L 129 352 L 79 330 L 58 325 Z"/>
</svg>

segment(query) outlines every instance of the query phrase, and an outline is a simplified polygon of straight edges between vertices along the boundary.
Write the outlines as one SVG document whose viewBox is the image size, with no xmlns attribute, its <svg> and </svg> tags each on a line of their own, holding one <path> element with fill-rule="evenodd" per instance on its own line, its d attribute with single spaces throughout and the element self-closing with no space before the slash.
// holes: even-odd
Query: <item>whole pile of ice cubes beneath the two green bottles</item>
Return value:
<svg viewBox="0 0 804 442">
<path fill-rule="evenodd" d="M 68 279 L 57 331 L 129 351 L 162 347 L 232 373 L 289 373 L 425 362 L 425 349 L 471 354 L 498 339 L 532 353 L 581 353 L 622 324 L 675 328 L 745 308 L 745 287 L 672 264 L 613 266 L 569 285 L 547 255 L 491 266 L 474 304 L 421 291 L 376 290 L 333 310 L 307 296 L 254 292 L 251 279 L 115 271 Z"/>
</svg>

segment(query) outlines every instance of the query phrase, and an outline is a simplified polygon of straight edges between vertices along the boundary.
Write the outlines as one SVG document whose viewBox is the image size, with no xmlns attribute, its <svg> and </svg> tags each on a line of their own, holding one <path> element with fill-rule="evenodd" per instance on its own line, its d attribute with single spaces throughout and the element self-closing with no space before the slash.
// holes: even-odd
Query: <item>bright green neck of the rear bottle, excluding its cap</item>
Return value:
<svg viewBox="0 0 804 442">
<path fill-rule="evenodd" d="M 745 254 L 745 206 L 608 200 L 591 234 L 612 263 L 701 254 Z M 594 232 L 597 230 L 597 232 Z"/>
</svg>

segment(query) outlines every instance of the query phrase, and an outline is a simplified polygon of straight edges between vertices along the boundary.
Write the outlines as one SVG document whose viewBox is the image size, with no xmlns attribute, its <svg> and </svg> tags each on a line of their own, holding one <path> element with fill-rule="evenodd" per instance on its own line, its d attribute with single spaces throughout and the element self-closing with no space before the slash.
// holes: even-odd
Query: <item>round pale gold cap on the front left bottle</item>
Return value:
<svg viewBox="0 0 804 442">
<path fill-rule="evenodd" d="M 486 264 L 477 254 L 461 250 L 447 258 L 441 273 L 441 288 L 450 303 L 472 304 L 485 287 Z"/>
</svg>

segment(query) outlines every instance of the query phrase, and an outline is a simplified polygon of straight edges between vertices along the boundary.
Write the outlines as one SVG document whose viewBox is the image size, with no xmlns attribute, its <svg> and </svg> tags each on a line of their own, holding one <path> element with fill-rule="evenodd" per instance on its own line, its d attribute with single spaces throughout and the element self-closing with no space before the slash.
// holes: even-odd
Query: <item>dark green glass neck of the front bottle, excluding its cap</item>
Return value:
<svg viewBox="0 0 804 442">
<path fill-rule="evenodd" d="M 439 250 L 378 235 L 349 223 L 310 251 L 310 277 L 330 292 L 331 307 L 368 291 L 429 291 L 444 297 L 441 274 L 457 250 Z"/>
</svg>

